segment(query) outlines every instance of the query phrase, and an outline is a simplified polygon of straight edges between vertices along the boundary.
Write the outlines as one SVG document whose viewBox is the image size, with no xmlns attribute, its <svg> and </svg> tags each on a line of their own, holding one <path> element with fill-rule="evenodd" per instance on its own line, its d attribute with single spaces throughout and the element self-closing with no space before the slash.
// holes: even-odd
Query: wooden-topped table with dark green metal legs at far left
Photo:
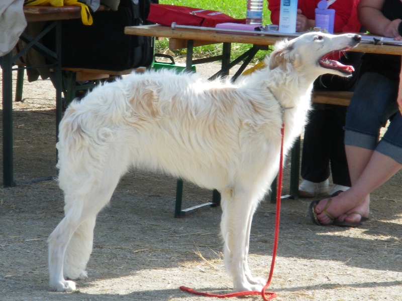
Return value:
<svg viewBox="0 0 402 301">
<path fill-rule="evenodd" d="M 14 165 L 13 165 L 13 97 L 12 97 L 12 71 L 21 68 L 13 68 L 13 64 L 29 49 L 34 48 L 46 57 L 51 63 L 41 67 L 52 67 L 55 73 L 55 89 L 56 89 L 56 137 L 58 135 L 58 124 L 62 115 L 61 103 L 61 21 L 69 19 L 81 18 L 81 7 L 63 6 L 63 7 L 47 7 L 47 6 L 24 6 L 25 18 L 27 22 L 53 21 L 49 22 L 37 37 L 30 37 L 23 33 L 20 37 L 27 46 L 19 53 L 13 56 L 12 52 L 1 58 L 3 68 L 3 186 L 15 186 L 14 182 Z M 101 6 L 100 10 L 107 10 L 105 6 Z M 39 40 L 48 34 L 52 29 L 56 30 L 56 52 L 51 51 Z M 44 177 L 35 179 L 37 181 L 51 179 L 52 177 Z M 32 180 L 32 181 L 35 181 Z"/>
</svg>

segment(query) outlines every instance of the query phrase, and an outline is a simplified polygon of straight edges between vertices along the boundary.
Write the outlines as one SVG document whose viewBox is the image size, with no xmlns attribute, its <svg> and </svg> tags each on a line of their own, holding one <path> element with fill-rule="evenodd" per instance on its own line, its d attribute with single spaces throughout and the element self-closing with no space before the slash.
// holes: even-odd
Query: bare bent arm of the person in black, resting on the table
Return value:
<svg viewBox="0 0 402 301">
<path fill-rule="evenodd" d="M 398 26 L 402 19 L 390 21 L 385 18 L 381 12 L 384 2 L 385 0 L 360 0 L 357 6 L 359 21 L 371 34 L 402 41 L 398 33 Z"/>
</svg>

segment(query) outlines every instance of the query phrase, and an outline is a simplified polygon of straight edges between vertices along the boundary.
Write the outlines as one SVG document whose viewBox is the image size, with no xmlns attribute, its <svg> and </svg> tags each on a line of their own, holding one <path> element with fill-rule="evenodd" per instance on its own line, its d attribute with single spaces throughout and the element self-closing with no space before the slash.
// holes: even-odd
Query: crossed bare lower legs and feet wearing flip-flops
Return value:
<svg viewBox="0 0 402 301">
<path fill-rule="evenodd" d="M 348 157 L 348 162 L 349 158 L 351 160 L 353 159 L 351 163 L 352 171 L 349 171 L 351 173 L 352 187 L 339 194 L 337 197 L 334 197 L 327 212 L 341 221 L 358 222 L 361 218 L 360 215 L 351 214 L 347 216 L 347 214 L 358 211 L 362 216 L 367 217 L 369 213 L 370 192 L 385 183 L 402 168 L 402 165 L 392 158 L 376 151 L 373 152 L 355 146 L 347 147 L 350 148 L 347 150 L 347 154 L 352 153 L 352 156 Z M 370 152 L 371 156 L 367 162 L 367 157 Z M 364 162 L 367 162 L 367 164 L 365 168 L 362 169 L 361 167 L 364 166 Z M 331 222 L 329 217 L 322 213 L 326 204 L 327 202 L 321 201 L 316 206 L 317 217 L 322 224 Z"/>
</svg>

